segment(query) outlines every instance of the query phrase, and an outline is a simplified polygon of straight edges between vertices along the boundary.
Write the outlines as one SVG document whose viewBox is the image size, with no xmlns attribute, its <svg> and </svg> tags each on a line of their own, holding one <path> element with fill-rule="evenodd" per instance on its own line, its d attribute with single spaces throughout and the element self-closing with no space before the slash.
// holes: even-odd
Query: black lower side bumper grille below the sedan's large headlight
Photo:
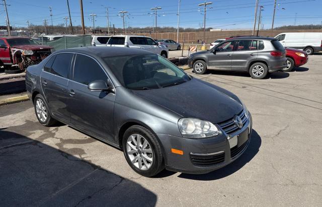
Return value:
<svg viewBox="0 0 322 207">
<path fill-rule="evenodd" d="M 225 161 L 225 153 L 221 152 L 215 155 L 196 155 L 190 154 L 190 159 L 194 165 L 211 166 Z"/>
</svg>

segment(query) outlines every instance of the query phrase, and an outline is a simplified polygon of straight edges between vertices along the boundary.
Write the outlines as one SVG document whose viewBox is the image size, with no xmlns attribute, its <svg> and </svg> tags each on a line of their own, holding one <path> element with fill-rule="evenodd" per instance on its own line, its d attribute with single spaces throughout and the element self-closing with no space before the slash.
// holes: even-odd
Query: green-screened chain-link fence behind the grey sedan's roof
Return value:
<svg viewBox="0 0 322 207">
<path fill-rule="evenodd" d="M 85 36 L 63 36 L 56 40 L 46 41 L 45 38 L 41 37 L 41 40 L 36 40 L 39 44 L 48 45 L 53 47 L 55 50 L 67 49 L 73 47 L 86 47 L 91 46 L 91 35 Z"/>
</svg>

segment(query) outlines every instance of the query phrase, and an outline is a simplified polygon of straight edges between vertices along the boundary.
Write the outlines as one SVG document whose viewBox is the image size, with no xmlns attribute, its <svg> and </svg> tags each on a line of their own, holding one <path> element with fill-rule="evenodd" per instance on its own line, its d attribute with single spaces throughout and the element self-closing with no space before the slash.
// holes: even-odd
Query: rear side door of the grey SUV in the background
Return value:
<svg viewBox="0 0 322 207">
<path fill-rule="evenodd" d="M 257 59 L 257 40 L 237 40 L 231 57 L 232 71 L 247 71 L 249 62 Z"/>
</svg>

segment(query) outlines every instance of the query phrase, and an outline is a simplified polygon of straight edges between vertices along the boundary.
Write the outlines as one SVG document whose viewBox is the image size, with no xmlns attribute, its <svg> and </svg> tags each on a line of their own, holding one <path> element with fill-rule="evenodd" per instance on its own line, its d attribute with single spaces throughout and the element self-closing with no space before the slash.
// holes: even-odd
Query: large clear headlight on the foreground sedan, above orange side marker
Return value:
<svg viewBox="0 0 322 207">
<path fill-rule="evenodd" d="M 178 126 L 182 136 L 186 138 L 205 138 L 219 134 L 214 124 L 196 118 L 181 118 Z"/>
</svg>

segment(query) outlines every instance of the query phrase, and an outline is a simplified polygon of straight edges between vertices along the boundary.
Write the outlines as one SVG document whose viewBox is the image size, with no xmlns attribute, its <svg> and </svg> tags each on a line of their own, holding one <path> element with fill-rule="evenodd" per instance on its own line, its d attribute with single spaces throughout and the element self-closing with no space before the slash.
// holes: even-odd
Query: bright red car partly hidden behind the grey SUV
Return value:
<svg viewBox="0 0 322 207">
<path fill-rule="evenodd" d="M 308 61 L 308 55 L 305 51 L 293 48 L 285 48 L 287 67 L 284 72 L 290 72 L 294 67 L 299 67 Z"/>
</svg>

